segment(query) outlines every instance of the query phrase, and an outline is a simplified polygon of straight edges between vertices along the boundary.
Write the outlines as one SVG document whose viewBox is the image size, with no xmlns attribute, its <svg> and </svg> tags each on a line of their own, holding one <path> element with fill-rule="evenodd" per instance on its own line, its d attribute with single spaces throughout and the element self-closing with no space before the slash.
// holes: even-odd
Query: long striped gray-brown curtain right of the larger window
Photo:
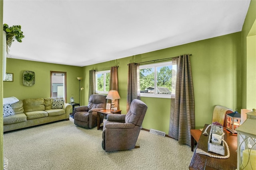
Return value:
<svg viewBox="0 0 256 170">
<path fill-rule="evenodd" d="M 178 143 L 190 146 L 190 129 L 195 128 L 195 102 L 189 55 L 177 58 L 175 91 L 173 122 L 170 122 L 172 128 L 168 135 Z"/>
</svg>

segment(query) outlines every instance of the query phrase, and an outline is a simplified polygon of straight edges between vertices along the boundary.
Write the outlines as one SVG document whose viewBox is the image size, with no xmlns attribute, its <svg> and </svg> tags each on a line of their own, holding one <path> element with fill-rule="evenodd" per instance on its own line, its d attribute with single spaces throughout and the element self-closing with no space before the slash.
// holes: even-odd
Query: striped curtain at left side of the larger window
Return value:
<svg viewBox="0 0 256 170">
<path fill-rule="evenodd" d="M 126 112 L 130 110 L 130 104 L 134 99 L 140 99 L 138 94 L 138 66 L 136 63 L 128 64 L 128 82 L 127 82 L 127 102 L 126 102 Z"/>
</svg>

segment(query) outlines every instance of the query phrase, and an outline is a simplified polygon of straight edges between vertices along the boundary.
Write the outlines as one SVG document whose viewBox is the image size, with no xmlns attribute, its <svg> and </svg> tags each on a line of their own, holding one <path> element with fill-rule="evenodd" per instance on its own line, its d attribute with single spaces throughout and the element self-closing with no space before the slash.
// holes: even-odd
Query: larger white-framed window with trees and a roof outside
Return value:
<svg viewBox="0 0 256 170">
<path fill-rule="evenodd" d="M 175 93 L 176 65 L 172 62 L 140 66 L 140 96 L 171 98 Z M 174 75 L 174 76 L 172 76 Z"/>
</svg>

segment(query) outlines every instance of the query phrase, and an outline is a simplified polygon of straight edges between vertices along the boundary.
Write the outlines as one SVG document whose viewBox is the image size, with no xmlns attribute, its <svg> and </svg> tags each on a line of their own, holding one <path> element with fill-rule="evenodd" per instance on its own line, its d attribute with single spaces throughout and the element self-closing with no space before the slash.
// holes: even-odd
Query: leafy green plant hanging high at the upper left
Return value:
<svg viewBox="0 0 256 170">
<path fill-rule="evenodd" d="M 21 31 L 20 25 L 13 25 L 9 27 L 6 23 L 4 23 L 4 31 L 6 32 L 6 44 L 8 45 L 8 49 L 11 47 L 12 42 L 14 39 L 16 39 L 19 43 L 22 42 L 22 38 L 25 36 L 23 35 L 23 32 Z M 7 50 L 8 52 L 8 50 Z"/>
</svg>

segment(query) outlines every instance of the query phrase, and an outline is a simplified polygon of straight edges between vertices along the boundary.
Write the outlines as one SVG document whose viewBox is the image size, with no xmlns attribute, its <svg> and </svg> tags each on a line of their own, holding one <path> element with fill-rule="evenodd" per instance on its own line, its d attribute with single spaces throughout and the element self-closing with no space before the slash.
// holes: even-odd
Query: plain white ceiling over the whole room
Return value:
<svg viewBox="0 0 256 170">
<path fill-rule="evenodd" d="M 86 66 L 242 30 L 250 0 L 4 0 L 10 58 Z M 181 51 L 182 53 L 182 51 Z"/>
</svg>

